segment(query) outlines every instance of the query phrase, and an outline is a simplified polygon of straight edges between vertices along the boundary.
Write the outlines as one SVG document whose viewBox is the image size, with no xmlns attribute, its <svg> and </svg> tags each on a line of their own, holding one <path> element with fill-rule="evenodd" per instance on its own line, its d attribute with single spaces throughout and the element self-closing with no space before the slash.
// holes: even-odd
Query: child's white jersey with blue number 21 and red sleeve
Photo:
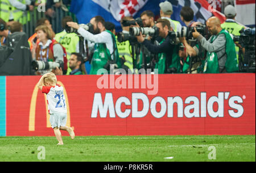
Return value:
<svg viewBox="0 0 256 173">
<path fill-rule="evenodd" d="M 43 86 L 42 92 L 47 96 L 49 113 L 67 113 L 67 104 L 62 86 Z"/>
</svg>

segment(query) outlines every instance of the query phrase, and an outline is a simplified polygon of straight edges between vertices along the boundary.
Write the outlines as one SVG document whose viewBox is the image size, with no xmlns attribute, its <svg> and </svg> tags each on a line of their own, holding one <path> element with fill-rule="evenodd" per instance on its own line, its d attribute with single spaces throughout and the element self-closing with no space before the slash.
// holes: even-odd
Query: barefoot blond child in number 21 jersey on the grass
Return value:
<svg viewBox="0 0 256 173">
<path fill-rule="evenodd" d="M 57 145 L 63 145 L 60 130 L 65 130 L 71 138 L 75 138 L 75 133 L 71 127 L 66 126 L 67 107 L 63 87 L 57 84 L 57 78 L 54 73 L 42 75 L 38 82 L 38 88 L 47 96 L 49 121 L 59 142 Z"/>
</svg>

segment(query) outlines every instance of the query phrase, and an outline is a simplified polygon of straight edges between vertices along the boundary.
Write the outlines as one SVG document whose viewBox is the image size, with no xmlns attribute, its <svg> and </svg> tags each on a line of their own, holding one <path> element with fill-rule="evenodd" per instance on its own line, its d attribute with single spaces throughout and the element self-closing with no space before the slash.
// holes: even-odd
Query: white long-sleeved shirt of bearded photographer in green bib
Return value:
<svg viewBox="0 0 256 173">
<path fill-rule="evenodd" d="M 93 43 L 105 43 L 106 47 L 109 49 L 110 54 L 113 53 L 113 40 L 112 40 L 112 35 L 106 31 L 103 31 L 101 33 L 98 33 L 96 35 L 93 35 L 92 33 L 90 33 L 89 31 L 86 31 L 84 28 L 80 27 L 77 30 L 78 33 L 80 33 L 80 35 L 82 37 L 84 37 L 84 39 L 92 41 Z M 113 54 L 111 56 L 112 60 L 113 60 Z"/>
</svg>

